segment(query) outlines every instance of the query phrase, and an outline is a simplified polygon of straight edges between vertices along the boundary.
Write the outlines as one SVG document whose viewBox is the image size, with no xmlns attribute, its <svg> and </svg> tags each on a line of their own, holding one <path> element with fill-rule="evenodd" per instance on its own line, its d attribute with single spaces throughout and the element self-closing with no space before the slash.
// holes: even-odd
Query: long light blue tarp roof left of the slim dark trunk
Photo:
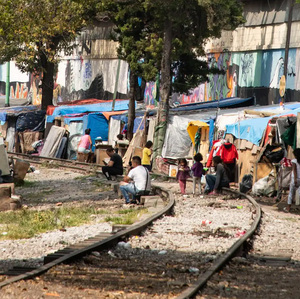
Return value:
<svg viewBox="0 0 300 299">
<path fill-rule="evenodd" d="M 128 110 L 128 100 L 119 100 L 115 102 L 115 111 Z M 77 105 L 77 106 L 59 106 L 54 109 L 52 116 L 79 114 L 88 112 L 107 112 L 111 111 L 112 102 Z"/>
</svg>

